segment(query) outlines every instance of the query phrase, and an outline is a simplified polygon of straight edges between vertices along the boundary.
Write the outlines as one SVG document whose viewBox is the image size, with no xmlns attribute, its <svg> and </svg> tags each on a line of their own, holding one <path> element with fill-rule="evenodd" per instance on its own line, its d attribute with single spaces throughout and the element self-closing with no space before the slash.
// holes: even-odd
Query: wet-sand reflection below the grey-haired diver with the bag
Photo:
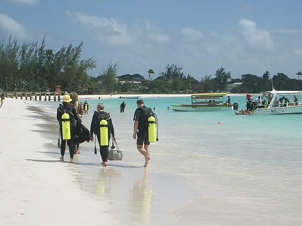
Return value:
<svg viewBox="0 0 302 226">
<path fill-rule="evenodd" d="M 110 193 L 112 183 L 120 180 L 121 173 L 112 167 L 103 167 L 99 172 L 96 182 L 96 193 L 101 195 L 103 193 Z"/>
</svg>

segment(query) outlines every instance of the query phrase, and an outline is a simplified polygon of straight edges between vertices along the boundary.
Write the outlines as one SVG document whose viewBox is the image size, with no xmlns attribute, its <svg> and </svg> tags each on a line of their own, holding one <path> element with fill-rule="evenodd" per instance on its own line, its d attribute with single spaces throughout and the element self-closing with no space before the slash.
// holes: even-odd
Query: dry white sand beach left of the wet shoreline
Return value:
<svg viewBox="0 0 302 226">
<path fill-rule="evenodd" d="M 45 121 L 24 101 L 6 98 L 0 115 L 0 225 L 116 224 L 106 205 L 74 184 L 72 165 L 44 154 L 51 141 L 34 130 Z"/>
</svg>

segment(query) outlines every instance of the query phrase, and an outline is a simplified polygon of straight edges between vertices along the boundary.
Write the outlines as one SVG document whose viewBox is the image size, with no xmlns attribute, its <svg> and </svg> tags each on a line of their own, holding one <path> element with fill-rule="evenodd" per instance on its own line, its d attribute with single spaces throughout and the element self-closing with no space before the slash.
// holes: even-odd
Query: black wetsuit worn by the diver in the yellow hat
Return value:
<svg viewBox="0 0 302 226">
<path fill-rule="evenodd" d="M 72 107 L 68 104 L 63 104 L 62 108 L 66 109 L 66 110 L 69 110 L 72 113 L 73 118 L 75 120 L 77 120 L 79 122 L 82 122 L 82 120 L 78 117 L 77 111 L 75 110 L 74 107 Z M 63 140 L 62 122 L 61 122 L 62 115 L 63 115 L 63 113 L 58 110 L 57 111 L 57 120 L 58 120 L 59 125 L 60 125 L 60 135 L 61 135 L 60 149 L 61 149 L 61 156 L 64 156 L 65 149 L 66 149 L 66 140 Z M 72 121 L 72 119 L 70 119 L 70 140 L 67 140 L 67 145 L 69 147 L 69 155 L 70 155 L 71 159 L 73 158 L 73 153 L 74 153 L 74 150 L 75 150 L 74 137 L 75 137 L 75 135 L 77 135 L 75 127 L 76 127 L 75 121 L 74 120 Z"/>
</svg>

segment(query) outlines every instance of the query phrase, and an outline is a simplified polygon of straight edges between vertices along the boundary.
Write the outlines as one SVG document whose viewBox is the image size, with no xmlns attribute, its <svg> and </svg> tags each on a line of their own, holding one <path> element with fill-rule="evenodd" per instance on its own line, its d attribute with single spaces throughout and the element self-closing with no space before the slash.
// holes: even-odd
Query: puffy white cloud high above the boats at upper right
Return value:
<svg viewBox="0 0 302 226">
<path fill-rule="evenodd" d="M 271 50 L 275 44 L 271 40 L 270 34 L 261 29 L 256 28 L 256 23 L 247 19 L 239 21 L 239 32 L 245 40 L 252 46 L 259 49 Z"/>
</svg>

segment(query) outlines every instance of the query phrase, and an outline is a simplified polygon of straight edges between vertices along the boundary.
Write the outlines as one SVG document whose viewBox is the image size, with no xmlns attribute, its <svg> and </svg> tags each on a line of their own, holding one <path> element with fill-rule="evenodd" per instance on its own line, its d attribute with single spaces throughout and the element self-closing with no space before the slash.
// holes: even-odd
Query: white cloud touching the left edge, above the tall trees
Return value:
<svg viewBox="0 0 302 226">
<path fill-rule="evenodd" d="M 28 30 L 6 14 L 0 14 L 0 30 L 7 34 L 12 34 L 13 37 L 26 39 L 29 37 Z"/>
</svg>

